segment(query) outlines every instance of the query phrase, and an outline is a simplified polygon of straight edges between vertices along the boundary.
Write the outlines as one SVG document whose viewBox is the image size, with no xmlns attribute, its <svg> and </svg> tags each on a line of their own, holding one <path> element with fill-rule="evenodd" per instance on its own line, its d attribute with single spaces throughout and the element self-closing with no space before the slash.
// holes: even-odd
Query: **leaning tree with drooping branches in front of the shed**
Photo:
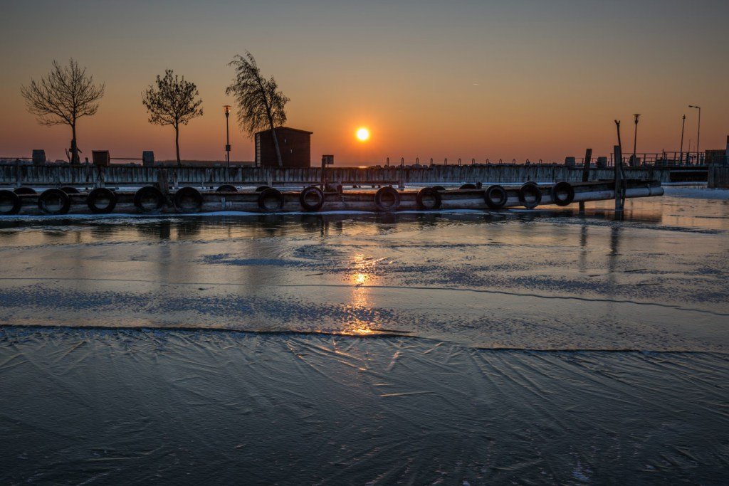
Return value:
<svg viewBox="0 0 729 486">
<path fill-rule="evenodd" d="M 285 106 L 289 98 L 284 96 L 276 79 L 265 79 L 256 64 L 253 55 L 246 51 L 246 57 L 236 55 L 228 66 L 235 68 L 235 79 L 225 89 L 225 94 L 233 95 L 238 101 L 238 125 L 241 130 L 253 135 L 257 131 L 268 128 L 276 147 L 278 167 L 284 165 L 281 160 L 281 149 L 278 147 L 276 126 L 286 123 Z"/>
</svg>

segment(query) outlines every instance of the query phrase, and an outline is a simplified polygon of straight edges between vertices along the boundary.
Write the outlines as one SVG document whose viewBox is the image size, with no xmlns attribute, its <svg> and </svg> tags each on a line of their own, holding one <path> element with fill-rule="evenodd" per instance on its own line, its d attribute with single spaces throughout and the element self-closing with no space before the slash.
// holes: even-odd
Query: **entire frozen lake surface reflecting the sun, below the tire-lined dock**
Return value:
<svg viewBox="0 0 729 486">
<path fill-rule="evenodd" d="M 720 482 L 725 193 L 0 218 L 0 479 Z"/>
</svg>

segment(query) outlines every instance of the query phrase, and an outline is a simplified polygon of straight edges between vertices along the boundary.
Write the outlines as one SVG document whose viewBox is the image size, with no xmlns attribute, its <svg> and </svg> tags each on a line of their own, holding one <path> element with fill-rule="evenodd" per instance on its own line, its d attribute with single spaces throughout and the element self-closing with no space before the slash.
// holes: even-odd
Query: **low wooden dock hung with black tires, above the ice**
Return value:
<svg viewBox="0 0 729 486">
<path fill-rule="evenodd" d="M 38 192 L 23 186 L 0 189 L 0 215 L 14 214 L 104 214 L 104 213 L 285 213 L 319 211 L 438 211 L 442 209 L 476 209 L 498 211 L 540 205 L 566 206 L 595 200 L 615 199 L 615 181 L 555 184 L 463 184 L 455 189 L 443 186 L 398 190 L 389 185 L 374 189 L 343 189 L 311 185 L 301 190 L 262 186 L 239 189 L 223 184 L 216 189 L 184 186 L 175 188 L 160 171 L 156 184 L 139 189 L 94 189 L 74 186 L 52 187 Z M 624 197 L 663 195 L 660 181 L 625 181 Z"/>
</svg>

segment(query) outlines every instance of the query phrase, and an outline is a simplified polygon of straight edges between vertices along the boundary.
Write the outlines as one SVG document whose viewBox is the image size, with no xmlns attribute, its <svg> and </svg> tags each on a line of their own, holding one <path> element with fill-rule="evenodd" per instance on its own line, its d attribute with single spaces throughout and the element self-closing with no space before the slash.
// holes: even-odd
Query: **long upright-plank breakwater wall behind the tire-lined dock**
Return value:
<svg viewBox="0 0 729 486">
<path fill-rule="evenodd" d="M 319 184 L 321 168 L 182 167 L 130 165 L 0 165 L 3 186 L 140 186 L 155 184 L 160 171 L 175 186 L 214 187 L 219 184 L 305 186 Z M 344 185 L 448 184 L 461 182 L 515 183 L 582 181 L 582 168 L 564 165 L 435 165 L 431 167 L 326 168 L 330 183 Z M 670 168 L 625 168 L 628 179 L 671 181 Z M 589 181 L 612 179 L 612 168 L 590 168 Z"/>
</svg>

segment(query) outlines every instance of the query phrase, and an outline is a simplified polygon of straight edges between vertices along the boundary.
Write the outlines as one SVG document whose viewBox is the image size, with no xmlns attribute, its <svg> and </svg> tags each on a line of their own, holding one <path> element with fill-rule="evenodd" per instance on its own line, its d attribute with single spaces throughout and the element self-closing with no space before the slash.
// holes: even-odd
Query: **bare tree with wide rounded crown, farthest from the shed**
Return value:
<svg viewBox="0 0 729 486">
<path fill-rule="evenodd" d="M 104 83 L 93 84 L 93 76 L 87 76 L 86 68 L 75 60 L 68 66 L 60 66 L 55 60 L 53 69 L 39 82 L 20 87 L 26 98 L 28 111 L 38 117 L 41 125 L 69 125 L 71 127 L 71 163 L 79 163 L 76 140 L 76 123 L 81 117 L 90 117 L 98 111 L 98 101 L 104 96 Z"/>
</svg>

